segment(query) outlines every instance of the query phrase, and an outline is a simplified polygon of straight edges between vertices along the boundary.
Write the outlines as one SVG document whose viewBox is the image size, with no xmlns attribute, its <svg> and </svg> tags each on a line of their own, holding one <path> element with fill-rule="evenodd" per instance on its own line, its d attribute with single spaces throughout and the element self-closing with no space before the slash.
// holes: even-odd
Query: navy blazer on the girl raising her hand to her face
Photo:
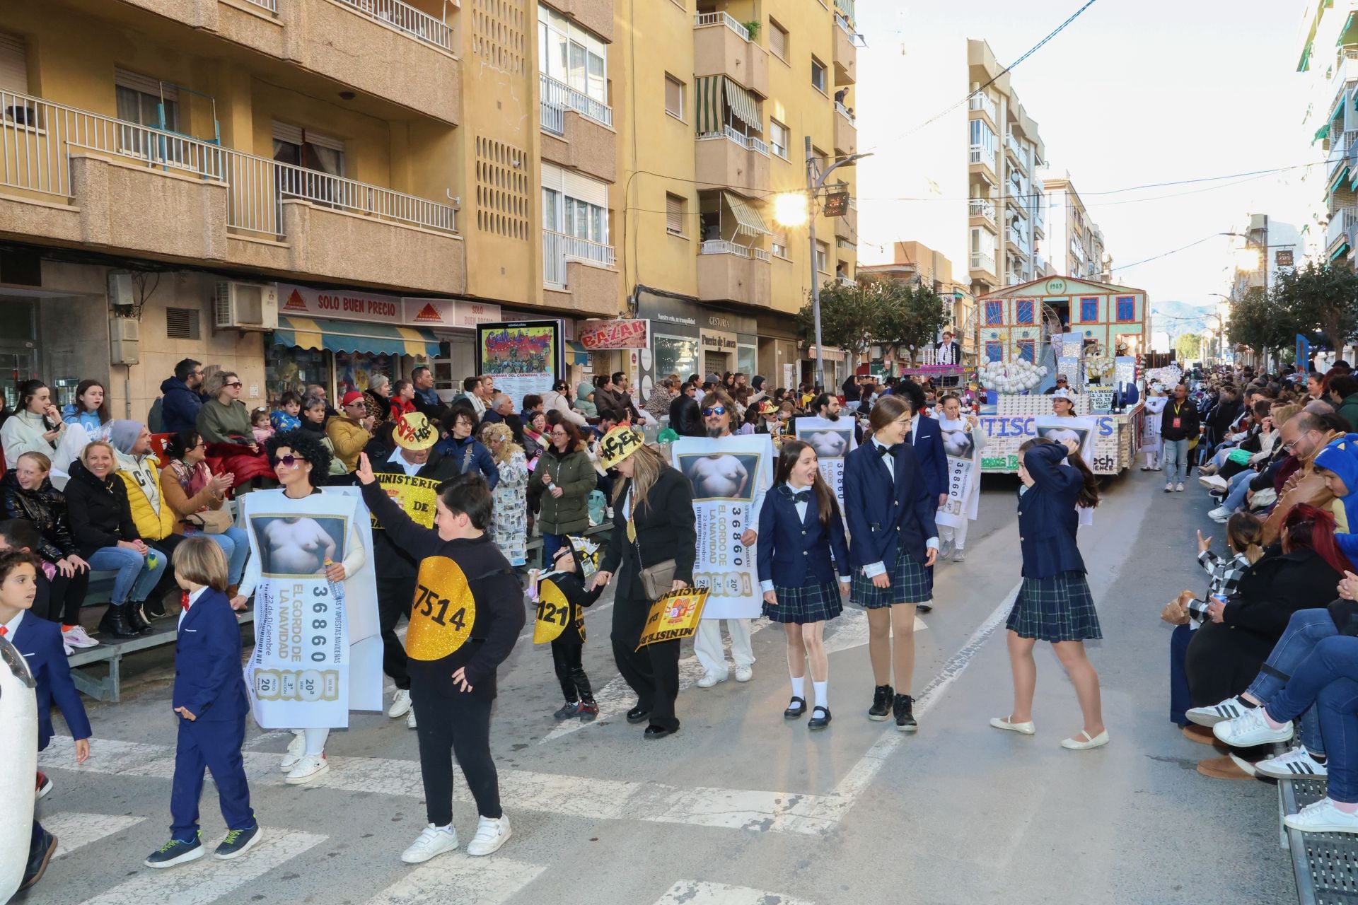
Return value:
<svg viewBox="0 0 1358 905">
<path fill-rule="evenodd" d="M 1076 545 L 1080 529 L 1076 501 L 1085 479 L 1077 468 L 1063 464 L 1065 459 L 1066 448 L 1057 444 L 1039 444 L 1023 453 L 1024 468 L 1033 480 L 1019 497 L 1024 578 L 1085 571 L 1085 560 Z"/>
</svg>

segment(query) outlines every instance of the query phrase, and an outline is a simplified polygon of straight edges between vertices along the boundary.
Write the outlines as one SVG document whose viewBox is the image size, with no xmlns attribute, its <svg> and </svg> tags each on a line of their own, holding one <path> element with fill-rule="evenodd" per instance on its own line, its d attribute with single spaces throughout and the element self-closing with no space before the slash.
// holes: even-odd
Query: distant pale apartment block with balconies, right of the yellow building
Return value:
<svg viewBox="0 0 1358 905">
<path fill-rule="evenodd" d="M 1010 75 L 985 41 L 967 41 L 967 251 L 972 296 L 1054 273 L 1046 247 L 1047 149 Z"/>
</svg>

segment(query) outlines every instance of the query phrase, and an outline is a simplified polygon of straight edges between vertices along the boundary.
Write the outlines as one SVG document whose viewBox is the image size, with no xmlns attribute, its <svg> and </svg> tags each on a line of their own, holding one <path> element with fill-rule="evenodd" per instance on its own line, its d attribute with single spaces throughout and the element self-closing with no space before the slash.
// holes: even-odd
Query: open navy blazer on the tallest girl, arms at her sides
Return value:
<svg viewBox="0 0 1358 905">
<path fill-rule="evenodd" d="M 937 512 L 938 497 L 929 490 L 919 456 L 909 442 L 896 450 L 894 482 L 872 438 L 845 457 L 849 562 L 856 569 L 880 562 L 889 570 L 896 562 L 898 539 L 922 566 L 926 541 L 938 536 Z"/>
</svg>

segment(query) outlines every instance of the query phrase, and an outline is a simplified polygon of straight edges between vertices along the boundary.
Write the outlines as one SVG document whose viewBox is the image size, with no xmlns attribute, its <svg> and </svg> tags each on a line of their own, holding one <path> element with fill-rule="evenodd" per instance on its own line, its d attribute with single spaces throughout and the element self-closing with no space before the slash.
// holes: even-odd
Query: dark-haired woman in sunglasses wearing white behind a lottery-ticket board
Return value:
<svg viewBox="0 0 1358 905">
<path fill-rule="evenodd" d="M 282 490 L 281 499 L 278 501 L 281 503 L 280 509 L 295 513 L 281 521 L 295 525 L 311 522 L 312 520 L 307 517 L 307 499 L 322 493 L 319 486 L 325 484 L 326 475 L 330 471 L 330 450 L 316 441 L 315 434 L 304 430 L 288 430 L 274 434 L 265 444 L 265 448 L 269 452 L 269 460 L 273 463 L 274 474 L 278 476 Z M 304 528 L 299 526 L 296 531 L 300 535 Z M 334 544 L 329 536 L 322 540 L 329 540 L 330 544 Z M 368 562 L 357 522 L 350 524 L 349 537 L 344 550 L 345 555 L 341 562 L 325 566 L 326 578 L 331 583 L 345 581 Z M 277 550 L 270 551 L 270 556 L 278 555 Z M 314 559 L 322 558 L 316 555 Z M 259 559 L 251 556 L 244 578 L 240 581 L 240 588 L 236 596 L 231 598 L 232 609 L 244 608 L 246 600 L 254 593 L 259 578 Z M 255 628 L 259 628 L 259 623 L 255 623 Z M 330 738 L 329 726 L 293 729 L 292 735 L 293 738 L 288 744 L 288 753 L 282 756 L 282 761 L 280 763 L 280 767 L 288 771 L 285 783 L 300 786 L 330 771 L 330 764 L 326 761 L 326 739 Z"/>
</svg>

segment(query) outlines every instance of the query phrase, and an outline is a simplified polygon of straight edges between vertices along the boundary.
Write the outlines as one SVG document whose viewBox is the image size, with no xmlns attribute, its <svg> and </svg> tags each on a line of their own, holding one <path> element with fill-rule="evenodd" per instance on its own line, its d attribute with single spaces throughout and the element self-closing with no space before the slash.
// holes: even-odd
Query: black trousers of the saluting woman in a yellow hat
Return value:
<svg viewBox="0 0 1358 905">
<path fill-rule="evenodd" d="M 637 706 L 650 711 L 650 725 L 679 729 L 679 642 L 661 640 L 637 650 L 637 639 L 650 613 L 641 578 L 630 566 L 618 577 L 612 604 L 612 657 L 622 678 L 637 692 Z M 630 573 L 630 574 L 629 574 Z"/>
</svg>

